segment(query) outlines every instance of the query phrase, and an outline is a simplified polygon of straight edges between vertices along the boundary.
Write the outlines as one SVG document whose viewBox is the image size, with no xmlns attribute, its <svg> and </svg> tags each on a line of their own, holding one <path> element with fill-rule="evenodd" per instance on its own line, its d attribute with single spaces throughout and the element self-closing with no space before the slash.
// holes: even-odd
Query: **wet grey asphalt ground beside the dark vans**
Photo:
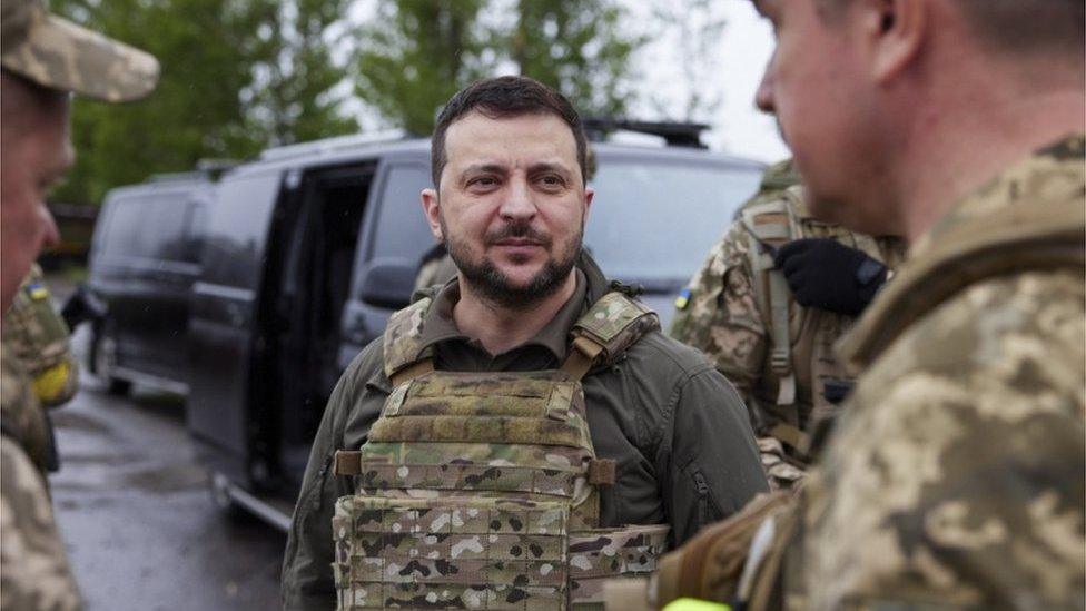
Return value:
<svg viewBox="0 0 1086 611">
<path fill-rule="evenodd" d="M 182 401 L 140 387 L 115 397 L 85 373 L 52 416 L 57 521 L 90 611 L 279 608 L 286 536 L 211 504 Z"/>
</svg>

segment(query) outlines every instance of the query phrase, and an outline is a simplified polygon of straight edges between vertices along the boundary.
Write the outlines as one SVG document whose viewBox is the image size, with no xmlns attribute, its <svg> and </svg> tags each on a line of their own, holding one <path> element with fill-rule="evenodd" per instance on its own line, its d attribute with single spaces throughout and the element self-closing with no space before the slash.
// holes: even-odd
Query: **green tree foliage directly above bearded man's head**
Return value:
<svg viewBox="0 0 1086 611">
<path fill-rule="evenodd" d="M 618 33 L 624 16 L 614 0 L 379 0 L 359 32 L 356 92 L 423 135 L 456 90 L 498 73 L 555 87 L 586 115 L 620 115 L 644 42 Z"/>
</svg>

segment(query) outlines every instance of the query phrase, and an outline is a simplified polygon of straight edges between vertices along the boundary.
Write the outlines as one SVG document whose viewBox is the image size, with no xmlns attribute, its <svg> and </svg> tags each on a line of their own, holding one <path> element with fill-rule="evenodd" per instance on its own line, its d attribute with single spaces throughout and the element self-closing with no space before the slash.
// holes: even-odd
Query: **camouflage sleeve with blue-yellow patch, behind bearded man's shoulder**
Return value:
<svg viewBox="0 0 1086 611">
<path fill-rule="evenodd" d="M 748 403 L 767 346 L 752 282 L 747 233 L 734 224 L 691 279 L 688 302 L 670 329 L 675 339 L 705 353 Z"/>
</svg>

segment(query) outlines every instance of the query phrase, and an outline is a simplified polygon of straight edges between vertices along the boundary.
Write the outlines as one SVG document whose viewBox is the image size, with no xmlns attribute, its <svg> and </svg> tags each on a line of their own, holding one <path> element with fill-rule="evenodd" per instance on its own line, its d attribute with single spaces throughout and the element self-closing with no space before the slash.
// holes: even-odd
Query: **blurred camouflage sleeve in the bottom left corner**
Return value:
<svg viewBox="0 0 1086 611">
<path fill-rule="evenodd" d="M 19 445 L 0 440 L 0 608 L 79 609 L 49 494 Z"/>
</svg>

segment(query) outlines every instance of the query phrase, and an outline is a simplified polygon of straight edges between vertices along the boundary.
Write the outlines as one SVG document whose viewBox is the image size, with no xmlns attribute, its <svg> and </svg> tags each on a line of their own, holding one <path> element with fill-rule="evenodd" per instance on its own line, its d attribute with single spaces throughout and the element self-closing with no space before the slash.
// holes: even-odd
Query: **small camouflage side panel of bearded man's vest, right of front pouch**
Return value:
<svg viewBox="0 0 1086 611">
<path fill-rule="evenodd" d="M 668 546 L 667 524 L 570 533 L 570 599 L 574 609 L 602 609 L 603 584 L 648 576 Z"/>
</svg>

